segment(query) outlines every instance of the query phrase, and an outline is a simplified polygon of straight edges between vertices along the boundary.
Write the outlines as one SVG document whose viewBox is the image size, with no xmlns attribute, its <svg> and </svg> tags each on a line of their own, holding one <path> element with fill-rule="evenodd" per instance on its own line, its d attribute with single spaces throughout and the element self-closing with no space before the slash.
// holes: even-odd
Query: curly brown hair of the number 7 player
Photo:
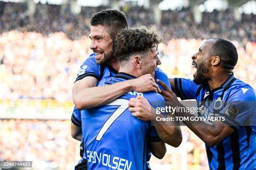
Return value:
<svg viewBox="0 0 256 170">
<path fill-rule="evenodd" d="M 154 28 L 148 30 L 145 26 L 125 28 L 115 37 L 113 42 L 114 55 L 119 62 L 127 61 L 131 55 L 141 55 L 158 47 L 162 37 Z"/>
</svg>

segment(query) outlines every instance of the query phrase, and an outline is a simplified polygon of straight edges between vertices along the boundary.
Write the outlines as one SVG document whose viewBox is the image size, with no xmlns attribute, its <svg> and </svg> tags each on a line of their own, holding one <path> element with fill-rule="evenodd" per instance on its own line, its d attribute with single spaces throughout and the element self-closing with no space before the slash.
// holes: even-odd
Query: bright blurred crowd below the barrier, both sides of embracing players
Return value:
<svg viewBox="0 0 256 170">
<path fill-rule="evenodd" d="M 152 156 L 153 169 L 161 165 L 180 169 L 182 154 L 187 155 L 189 169 L 207 168 L 204 144 L 187 127 L 182 127 L 182 133 L 183 143 L 178 149 L 168 145 L 162 160 Z M 71 138 L 69 120 L 0 120 L 0 161 L 29 160 L 33 169 L 66 170 L 73 169 L 79 159 L 79 142 Z"/>
</svg>

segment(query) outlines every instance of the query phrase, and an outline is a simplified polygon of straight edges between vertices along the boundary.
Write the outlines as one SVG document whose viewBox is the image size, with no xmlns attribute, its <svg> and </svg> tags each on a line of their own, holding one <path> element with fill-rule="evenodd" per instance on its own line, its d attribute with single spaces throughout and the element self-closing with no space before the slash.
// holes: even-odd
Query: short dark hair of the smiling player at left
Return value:
<svg viewBox="0 0 256 170">
<path fill-rule="evenodd" d="M 92 26 L 102 25 L 108 28 L 112 39 L 123 28 L 128 27 L 125 14 L 119 10 L 106 9 L 92 15 L 90 23 Z"/>
</svg>

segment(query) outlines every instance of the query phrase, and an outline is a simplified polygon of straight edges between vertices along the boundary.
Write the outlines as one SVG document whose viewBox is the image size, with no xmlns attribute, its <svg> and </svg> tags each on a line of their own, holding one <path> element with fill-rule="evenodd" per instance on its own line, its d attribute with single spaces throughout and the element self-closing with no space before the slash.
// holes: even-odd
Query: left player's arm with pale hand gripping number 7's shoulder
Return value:
<svg viewBox="0 0 256 170">
<path fill-rule="evenodd" d="M 153 120 L 152 115 L 156 115 L 155 109 L 151 107 L 148 100 L 144 97 L 137 96 L 136 98 L 131 98 L 128 105 L 132 115 L 140 120 L 151 121 Z M 158 116 L 164 117 L 162 115 Z M 156 128 L 157 135 L 164 143 L 176 148 L 182 143 L 182 132 L 178 123 L 175 125 L 166 125 L 163 121 L 154 123 L 157 123 L 154 127 Z"/>
</svg>

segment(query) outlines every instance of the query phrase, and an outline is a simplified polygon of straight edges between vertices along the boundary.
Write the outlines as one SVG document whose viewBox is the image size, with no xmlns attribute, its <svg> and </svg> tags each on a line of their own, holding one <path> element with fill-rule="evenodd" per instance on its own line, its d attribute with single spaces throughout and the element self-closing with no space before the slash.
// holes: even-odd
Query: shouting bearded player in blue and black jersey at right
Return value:
<svg viewBox="0 0 256 170">
<path fill-rule="evenodd" d="M 236 47 L 219 38 L 207 40 L 192 56 L 192 60 L 192 65 L 197 68 L 194 80 L 174 78 L 170 79 L 170 83 L 172 90 L 182 100 L 196 99 L 204 103 L 201 105 L 201 116 L 225 118 L 224 121 L 198 121 L 196 125 L 195 122 L 183 121 L 205 142 L 210 169 L 255 169 L 256 96 L 250 85 L 234 77 L 233 69 L 238 60 Z M 160 84 L 164 86 L 164 83 Z M 168 87 L 165 89 L 161 93 L 165 100 L 178 103 L 174 92 Z M 248 101 L 254 102 L 254 105 Z M 136 104 L 143 105 L 138 107 L 131 103 L 136 110 L 150 107 L 146 100 L 137 101 Z M 144 115 L 145 112 L 136 114 Z M 192 115 L 182 112 L 179 116 Z"/>
</svg>

